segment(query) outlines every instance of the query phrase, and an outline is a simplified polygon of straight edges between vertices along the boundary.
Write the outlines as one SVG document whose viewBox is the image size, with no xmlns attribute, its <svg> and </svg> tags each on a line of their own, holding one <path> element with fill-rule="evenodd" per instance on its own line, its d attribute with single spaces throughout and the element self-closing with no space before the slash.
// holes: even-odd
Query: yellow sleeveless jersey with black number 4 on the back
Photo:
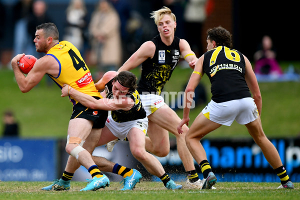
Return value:
<svg viewBox="0 0 300 200">
<path fill-rule="evenodd" d="M 47 52 L 46 55 L 53 56 L 59 64 L 57 77 L 48 74 L 53 81 L 62 88 L 63 84 L 68 84 L 72 88 L 95 97 L 102 98 L 96 89 L 91 73 L 81 57 L 78 49 L 68 41 L 59 41 Z M 71 102 L 78 101 L 69 97 Z"/>
</svg>

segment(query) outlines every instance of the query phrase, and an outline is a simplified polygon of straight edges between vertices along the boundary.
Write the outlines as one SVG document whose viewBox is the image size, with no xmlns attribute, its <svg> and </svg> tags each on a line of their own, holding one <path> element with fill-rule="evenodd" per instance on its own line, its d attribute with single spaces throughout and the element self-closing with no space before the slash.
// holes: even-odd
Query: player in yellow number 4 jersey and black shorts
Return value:
<svg viewBox="0 0 300 200">
<path fill-rule="evenodd" d="M 46 53 L 46 55 L 35 62 L 34 67 L 28 72 L 27 76 L 21 72 L 17 64 L 24 53 L 12 58 L 11 66 L 20 90 L 28 92 L 45 74 L 48 74 L 60 88 L 63 84 L 69 84 L 94 98 L 102 98 L 97 92 L 90 71 L 77 48 L 70 42 L 60 42 L 58 37 L 59 33 L 54 23 L 43 23 L 36 26 L 33 40 L 36 51 Z M 95 141 L 97 141 L 95 138 L 99 137 L 101 129 L 105 125 L 107 111 L 89 109 L 74 99 L 71 99 L 71 101 L 73 103 L 73 113 L 68 124 L 65 150 L 73 157 L 69 157 L 69 159 L 77 159 L 81 165 L 88 169 L 92 176 L 90 183 L 81 190 L 96 190 L 109 186 L 109 179 L 101 173 L 92 160 L 90 152 L 95 146 Z M 89 145 L 83 146 L 85 140 L 88 141 Z M 69 175 L 66 174 L 65 176 Z M 69 183 L 62 185 L 54 183 L 52 184 L 54 187 L 69 188 Z"/>
</svg>

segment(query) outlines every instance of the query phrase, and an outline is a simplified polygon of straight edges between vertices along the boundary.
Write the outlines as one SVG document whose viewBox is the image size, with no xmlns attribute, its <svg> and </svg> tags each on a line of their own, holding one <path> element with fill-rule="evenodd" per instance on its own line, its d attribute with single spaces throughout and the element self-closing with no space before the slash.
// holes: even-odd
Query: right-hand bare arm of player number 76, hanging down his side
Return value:
<svg viewBox="0 0 300 200">
<path fill-rule="evenodd" d="M 244 57 L 245 63 L 246 63 L 245 80 L 250 89 L 250 92 L 252 94 L 254 102 L 257 106 L 258 113 L 260 115 L 261 109 L 262 109 L 262 99 L 261 99 L 261 94 L 260 94 L 259 86 L 257 83 L 257 79 L 256 79 L 255 73 L 252 69 L 252 65 L 251 65 L 250 61 L 248 60 L 248 58 L 246 56 L 243 55 L 243 57 Z"/>
</svg>

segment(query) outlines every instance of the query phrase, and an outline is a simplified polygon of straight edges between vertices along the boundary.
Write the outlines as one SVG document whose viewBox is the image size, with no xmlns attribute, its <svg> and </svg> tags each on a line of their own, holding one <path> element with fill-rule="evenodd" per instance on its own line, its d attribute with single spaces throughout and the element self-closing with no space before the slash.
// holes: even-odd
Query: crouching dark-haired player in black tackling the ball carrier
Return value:
<svg viewBox="0 0 300 200">
<path fill-rule="evenodd" d="M 148 119 L 136 91 L 136 76 L 129 71 L 120 73 L 107 71 L 96 83 L 96 87 L 99 90 L 105 88 L 104 92 L 107 97 L 95 99 L 70 85 L 65 85 L 61 89 L 61 96 L 70 95 L 93 109 L 111 110 L 111 115 L 106 120 L 97 145 L 104 145 L 117 138 L 123 140 L 127 137 L 132 155 L 151 174 L 159 177 L 167 189 L 180 189 L 182 185 L 176 184 L 164 171 L 158 159 L 145 149 Z M 96 164 L 101 163 L 101 157 L 93 156 L 93 159 Z M 133 169 L 133 174 L 124 178 L 125 182 L 121 190 L 131 189 L 140 178 L 141 174 Z"/>
</svg>

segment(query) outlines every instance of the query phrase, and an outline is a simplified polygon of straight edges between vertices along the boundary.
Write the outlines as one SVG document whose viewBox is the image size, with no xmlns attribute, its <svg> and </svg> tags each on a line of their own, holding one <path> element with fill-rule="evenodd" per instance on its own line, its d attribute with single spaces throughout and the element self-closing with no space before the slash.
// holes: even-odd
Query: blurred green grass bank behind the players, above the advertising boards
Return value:
<svg viewBox="0 0 300 200">
<path fill-rule="evenodd" d="M 282 68 L 292 63 L 300 69 L 300 61 L 280 62 Z M 139 77 L 139 68 L 134 69 Z M 94 68 L 91 68 L 94 74 Z M 174 70 L 164 91 L 181 91 L 191 73 L 190 68 Z M 201 82 L 205 85 L 208 99 L 210 99 L 210 83 L 205 75 Z M 22 93 L 9 69 L 0 70 L 0 113 L 7 108 L 12 109 L 20 123 L 21 137 L 54 137 L 65 138 L 72 105 L 67 97 L 60 97 L 60 89 L 55 84 L 47 86 L 46 79 L 31 91 Z M 262 126 L 268 137 L 296 137 L 300 133 L 300 83 L 299 82 L 269 82 L 259 83 L 262 95 Z M 207 102 L 206 102 L 207 103 Z M 190 124 L 205 104 L 201 104 L 190 112 Z M 182 109 L 177 111 L 182 117 Z M 3 124 L 0 123 L 0 130 Z M 220 137 L 250 137 L 246 128 L 236 122 L 230 127 L 221 126 L 208 134 L 206 138 Z"/>
</svg>

